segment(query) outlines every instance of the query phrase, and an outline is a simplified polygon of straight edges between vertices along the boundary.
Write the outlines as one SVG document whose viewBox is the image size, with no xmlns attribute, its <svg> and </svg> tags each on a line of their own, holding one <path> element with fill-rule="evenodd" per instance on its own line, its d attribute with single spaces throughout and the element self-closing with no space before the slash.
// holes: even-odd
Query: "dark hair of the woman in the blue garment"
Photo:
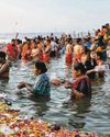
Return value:
<svg viewBox="0 0 110 137">
<path fill-rule="evenodd" d="M 41 70 L 41 73 L 44 73 L 44 72 L 47 71 L 46 65 L 43 61 L 40 61 L 40 60 L 35 62 L 35 68 Z"/>
</svg>

